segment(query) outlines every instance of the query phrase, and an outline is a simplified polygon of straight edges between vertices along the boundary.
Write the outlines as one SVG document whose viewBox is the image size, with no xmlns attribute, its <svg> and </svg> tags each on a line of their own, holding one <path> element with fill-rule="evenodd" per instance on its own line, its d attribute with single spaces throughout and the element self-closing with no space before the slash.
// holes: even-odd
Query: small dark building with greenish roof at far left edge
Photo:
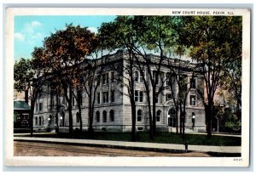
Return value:
<svg viewBox="0 0 256 175">
<path fill-rule="evenodd" d="M 15 122 L 14 128 L 16 130 L 29 128 L 29 114 L 30 106 L 25 101 L 14 101 Z"/>
</svg>

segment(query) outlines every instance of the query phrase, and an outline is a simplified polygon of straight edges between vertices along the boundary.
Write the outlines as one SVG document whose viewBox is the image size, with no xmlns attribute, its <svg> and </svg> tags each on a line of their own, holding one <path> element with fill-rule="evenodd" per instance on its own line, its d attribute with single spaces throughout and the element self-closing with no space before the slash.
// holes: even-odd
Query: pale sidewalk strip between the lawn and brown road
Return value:
<svg viewBox="0 0 256 175">
<path fill-rule="evenodd" d="M 183 144 L 155 144 L 143 142 L 122 142 L 108 140 L 70 139 L 70 138 L 30 138 L 14 137 L 15 141 L 43 142 L 51 144 L 75 144 L 97 147 L 107 147 L 125 150 L 151 150 L 160 152 L 183 153 L 186 152 Z M 188 145 L 188 151 L 208 152 L 213 154 L 241 154 L 241 146 L 205 146 Z"/>
</svg>

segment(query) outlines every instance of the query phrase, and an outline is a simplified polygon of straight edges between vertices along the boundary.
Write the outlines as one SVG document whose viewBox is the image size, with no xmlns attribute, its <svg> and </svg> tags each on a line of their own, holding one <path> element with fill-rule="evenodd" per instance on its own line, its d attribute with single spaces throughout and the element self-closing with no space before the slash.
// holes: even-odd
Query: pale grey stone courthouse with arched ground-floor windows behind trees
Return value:
<svg viewBox="0 0 256 175">
<path fill-rule="evenodd" d="M 159 59 L 157 55 L 151 55 L 151 59 Z M 128 77 L 126 71 L 123 72 L 123 76 L 119 76 L 119 73 L 113 69 L 113 65 L 121 65 L 123 67 L 129 65 L 128 54 L 119 51 L 108 57 L 102 57 L 101 63 L 104 63 L 103 73 L 101 75 L 100 86 L 96 90 L 96 102 L 93 116 L 93 128 L 95 131 L 107 131 L 107 132 L 129 132 L 131 131 L 131 104 L 130 99 L 127 96 L 128 91 L 123 83 L 120 83 L 120 78 L 124 76 Z M 177 63 L 177 59 L 168 59 L 173 65 Z M 99 61 L 100 62 L 100 61 Z M 169 62 L 170 65 L 170 62 Z M 192 78 L 192 72 L 188 67 L 195 66 L 189 61 L 182 61 L 183 75 L 188 77 L 191 88 L 189 90 L 186 100 L 186 114 L 185 114 L 185 131 L 204 132 L 206 131 L 205 110 L 201 99 L 196 93 L 196 89 L 200 88 L 204 90 L 204 81 L 201 75 L 197 75 Z M 149 117 L 148 117 L 148 103 L 145 93 L 145 87 L 143 78 L 140 71 L 137 71 L 137 66 L 134 65 L 134 82 L 135 82 L 135 101 L 137 110 L 137 131 L 148 131 L 149 129 Z M 155 71 L 155 65 L 151 65 L 151 70 Z M 170 72 L 170 67 L 165 65 L 165 62 L 161 66 L 160 72 L 165 77 Z M 148 73 L 144 71 L 146 80 L 148 80 Z M 117 81 L 117 77 L 119 81 Z M 166 79 L 166 88 L 160 93 L 156 103 L 156 127 L 158 131 L 162 132 L 175 132 L 176 127 L 179 127 L 179 121 L 176 121 L 175 114 L 177 112 L 179 118 L 179 111 L 175 110 L 173 103 L 173 97 L 176 97 L 178 88 L 177 82 L 174 83 L 172 94 L 171 88 L 168 88 L 168 80 Z M 157 85 L 158 86 L 158 85 Z M 47 87 L 45 87 L 47 88 Z M 88 103 L 86 93 L 83 91 L 82 95 L 81 116 L 83 130 L 89 128 L 88 117 Z M 67 100 L 63 96 L 59 96 L 58 103 L 56 99 L 49 93 L 40 93 L 35 104 L 33 126 L 35 131 L 44 131 L 46 129 L 54 130 L 56 124 L 60 127 L 60 131 L 68 131 L 68 111 Z M 56 106 L 56 104 L 60 104 Z M 58 109 L 58 117 L 56 112 Z M 195 118 L 195 127 L 192 130 L 192 116 Z M 56 121 L 56 118 L 58 121 Z M 179 119 L 178 119 L 179 120 Z M 79 109 L 77 102 L 73 97 L 73 129 L 79 128 Z"/>
</svg>

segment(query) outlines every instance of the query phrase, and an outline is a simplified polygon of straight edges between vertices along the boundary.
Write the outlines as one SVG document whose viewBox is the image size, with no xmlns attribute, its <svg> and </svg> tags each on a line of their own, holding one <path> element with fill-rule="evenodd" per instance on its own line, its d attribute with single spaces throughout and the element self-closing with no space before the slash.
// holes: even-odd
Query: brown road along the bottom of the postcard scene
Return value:
<svg viewBox="0 0 256 175">
<path fill-rule="evenodd" d="M 121 150 L 68 144 L 46 144 L 36 142 L 14 142 L 15 156 L 191 156 L 206 157 L 206 153 L 163 153 L 141 150 Z"/>
</svg>

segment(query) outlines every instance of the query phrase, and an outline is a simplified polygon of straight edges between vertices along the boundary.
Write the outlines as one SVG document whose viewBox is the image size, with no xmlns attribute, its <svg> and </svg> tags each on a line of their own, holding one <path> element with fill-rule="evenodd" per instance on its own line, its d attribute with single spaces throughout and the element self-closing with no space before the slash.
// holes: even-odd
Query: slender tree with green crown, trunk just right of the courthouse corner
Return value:
<svg viewBox="0 0 256 175">
<path fill-rule="evenodd" d="M 127 49 L 128 59 L 125 59 L 125 65 L 112 65 L 113 70 L 118 74 L 116 82 L 121 83 L 121 86 L 127 88 L 127 93 L 124 94 L 130 99 L 131 103 L 131 140 L 136 141 L 136 121 L 137 111 L 135 102 L 135 75 L 134 71 L 137 68 L 134 64 L 135 57 L 131 46 L 137 42 L 134 31 L 131 28 L 131 16 L 119 16 L 113 22 L 103 23 L 99 29 L 99 36 L 102 41 L 102 47 L 110 52 L 115 49 Z M 123 52 L 119 52 L 123 54 Z M 123 56 L 123 55 L 121 55 Z M 127 64 L 126 64 L 127 61 Z"/>
</svg>

